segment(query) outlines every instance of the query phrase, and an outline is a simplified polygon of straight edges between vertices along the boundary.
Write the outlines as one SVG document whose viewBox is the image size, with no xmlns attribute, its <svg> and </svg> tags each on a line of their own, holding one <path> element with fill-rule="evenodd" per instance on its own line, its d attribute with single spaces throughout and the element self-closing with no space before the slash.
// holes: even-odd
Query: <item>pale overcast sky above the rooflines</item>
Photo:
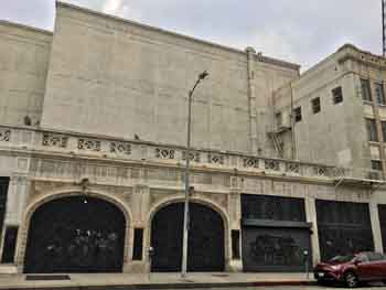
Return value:
<svg viewBox="0 0 386 290">
<path fill-rule="evenodd" d="M 303 69 L 344 43 L 382 53 L 380 0 L 66 0 Z M 54 0 L 0 0 L 0 19 L 53 30 Z"/>
</svg>

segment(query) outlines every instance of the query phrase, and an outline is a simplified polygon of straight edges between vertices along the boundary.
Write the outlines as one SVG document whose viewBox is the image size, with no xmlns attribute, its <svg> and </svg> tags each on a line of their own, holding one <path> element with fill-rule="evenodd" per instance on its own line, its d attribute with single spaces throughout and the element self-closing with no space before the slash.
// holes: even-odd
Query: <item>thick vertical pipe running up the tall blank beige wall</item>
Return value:
<svg viewBox="0 0 386 290">
<path fill-rule="evenodd" d="M 257 123 L 256 123 L 256 94 L 254 85 L 254 65 L 256 51 L 254 47 L 245 49 L 247 53 L 247 69 L 248 69 L 248 111 L 249 111 L 249 151 L 251 154 L 257 154 Z"/>
</svg>

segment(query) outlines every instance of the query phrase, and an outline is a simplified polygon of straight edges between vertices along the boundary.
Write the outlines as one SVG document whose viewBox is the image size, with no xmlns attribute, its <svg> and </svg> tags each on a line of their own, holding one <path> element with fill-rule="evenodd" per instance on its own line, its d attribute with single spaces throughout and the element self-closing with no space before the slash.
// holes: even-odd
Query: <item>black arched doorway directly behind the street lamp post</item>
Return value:
<svg viewBox="0 0 386 290">
<path fill-rule="evenodd" d="M 151 223 L 154 248 L 152 271 L 180 271 L 182 261 L 183 203 L 159 210 Z M 190 203 L 189 271 L 224 270 L 224 222 L 208 206 Z"/>
</svg>

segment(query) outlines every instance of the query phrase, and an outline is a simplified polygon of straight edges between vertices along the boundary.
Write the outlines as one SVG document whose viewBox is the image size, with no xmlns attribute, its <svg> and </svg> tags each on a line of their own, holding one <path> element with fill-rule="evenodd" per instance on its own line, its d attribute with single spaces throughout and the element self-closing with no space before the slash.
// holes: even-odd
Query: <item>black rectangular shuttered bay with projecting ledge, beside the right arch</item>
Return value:
<svg viewBox="0 0 386 290">
<path fill-rule="evenodd" d="M 265 195 L 242 195 L 245 271 L 304 271 L 311 260 L 310 227 L 304 202 Z"/>
</svg>

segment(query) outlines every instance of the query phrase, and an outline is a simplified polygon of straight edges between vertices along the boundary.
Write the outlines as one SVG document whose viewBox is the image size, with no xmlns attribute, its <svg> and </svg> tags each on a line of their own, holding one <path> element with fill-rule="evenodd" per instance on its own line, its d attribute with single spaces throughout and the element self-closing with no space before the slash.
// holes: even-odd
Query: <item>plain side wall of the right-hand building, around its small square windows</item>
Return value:
<svg viewBox="0 0 386 290">
<path fill-rule="evenodd" d="M 367 132 L 352 62 L 339 63 L 344 53 L 339 51 L 292 84 L 293 108 L 300 106 L 302 110 L 302 120 L 294 123 L 296 151 L 298 160 L 355 168 L 361 174 L 369 164 Z M 332 89 L 339 86 L 343 90 L 343 103 L 335 105 Z M 321 111 L 313 114 L 311 100 L 317 97 L 320 97 Z M 278 111 L 289 115 L 291 87 L 279 89 L 275 101 Z M 291 132 L 282 138 L 289 149 Z M 285 157 L 289 154 L 286 150 Z"/>
</svg>

